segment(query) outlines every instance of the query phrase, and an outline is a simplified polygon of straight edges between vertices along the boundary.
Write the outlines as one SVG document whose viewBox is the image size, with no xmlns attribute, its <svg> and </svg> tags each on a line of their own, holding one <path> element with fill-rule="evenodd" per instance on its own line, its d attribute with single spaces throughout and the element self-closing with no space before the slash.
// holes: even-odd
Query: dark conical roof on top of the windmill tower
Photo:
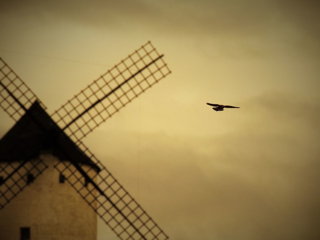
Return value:
<svg viewBox="0 0 320 240">
<path fill-rule="evenodd" d="M 0 162 L 28 160 L 45 152 L 99 169 L 35 101 L 0 140 Z"/>
</svg>

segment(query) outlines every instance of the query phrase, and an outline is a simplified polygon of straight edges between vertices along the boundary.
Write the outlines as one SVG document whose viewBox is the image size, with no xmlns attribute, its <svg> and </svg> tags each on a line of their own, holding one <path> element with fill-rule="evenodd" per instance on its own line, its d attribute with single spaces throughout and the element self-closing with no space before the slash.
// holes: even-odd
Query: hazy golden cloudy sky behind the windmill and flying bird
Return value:
<svg viewBox="0 0 320 240">
<path fill-rule="evenodd" d="M 318 239 L 318 9 L 311 0 L 7 1 L 0 57 L 51 114 L 150 40 L 172 74 L 85 145 L 170 239 Z M 0 117 L 3 136 L 14 122 Z M 102 239 L 116 236 L 98 220 Z"/>
</svg>

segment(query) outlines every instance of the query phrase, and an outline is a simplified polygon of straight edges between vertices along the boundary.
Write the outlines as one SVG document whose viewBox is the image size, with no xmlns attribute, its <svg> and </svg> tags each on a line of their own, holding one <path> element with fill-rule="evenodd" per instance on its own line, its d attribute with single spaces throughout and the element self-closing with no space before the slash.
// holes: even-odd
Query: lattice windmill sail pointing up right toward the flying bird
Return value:
<svg viewBox="0 0 320 240">
<path fill-rule="evenodd" d="M 78 142 L 106 119 L 171 73 L 148 42 L 55 111 L 51 117 Z"/>
</svg>

